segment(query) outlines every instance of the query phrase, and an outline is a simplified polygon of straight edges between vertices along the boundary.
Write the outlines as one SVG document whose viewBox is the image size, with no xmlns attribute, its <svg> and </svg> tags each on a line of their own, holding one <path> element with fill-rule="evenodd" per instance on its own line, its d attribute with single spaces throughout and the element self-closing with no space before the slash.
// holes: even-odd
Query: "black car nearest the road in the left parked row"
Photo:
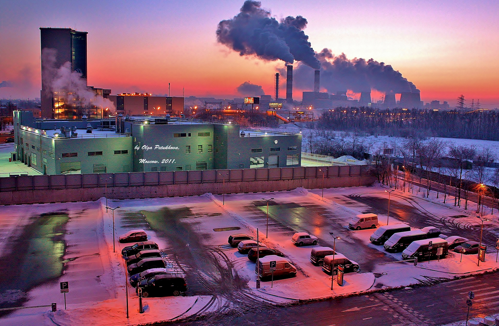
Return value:
<svg viewBox="0 0 499 326">
<path fill-rule="evenodd" d="M 139 288 L 142 289 L 144 298 L 166 297 L 169 295 L 176 297 L 187 291 L 187 282 L 184 274 L 167 273 L 139 281 L 135 289 L 137 294 Z"/>
</svg>

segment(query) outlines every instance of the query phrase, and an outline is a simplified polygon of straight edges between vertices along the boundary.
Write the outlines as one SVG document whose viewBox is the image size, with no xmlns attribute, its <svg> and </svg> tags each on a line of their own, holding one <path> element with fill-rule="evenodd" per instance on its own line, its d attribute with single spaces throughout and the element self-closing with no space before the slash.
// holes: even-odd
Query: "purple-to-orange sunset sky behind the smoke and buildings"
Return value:
<svg viewBox="0 0 499 326">
<path fill-rule="evenodd" d="M 399 70 L 424 102 L 459 95 L 499 107 L 499 1 L 263 0 L 276 18 L 302 15 L 315 51 L 373 58 Z M 239 1 L 0 0 L 0 98 L 40 97 L 39 27 L 88 31 L 88 85 L 172 96 L 241 97 L 245 81 L 273 93 L 281 61 L 217 44 Z M 310 83 L 310 89 L 313 85 Z M 299 93 L 300 92 L 300 93 Z M 281 97 L 284 93 L 281 93 Z M 301 90 L 294 91 L 301 99 Z M 377 100 L 377 99 L 375 99 Z"/>
</svg>

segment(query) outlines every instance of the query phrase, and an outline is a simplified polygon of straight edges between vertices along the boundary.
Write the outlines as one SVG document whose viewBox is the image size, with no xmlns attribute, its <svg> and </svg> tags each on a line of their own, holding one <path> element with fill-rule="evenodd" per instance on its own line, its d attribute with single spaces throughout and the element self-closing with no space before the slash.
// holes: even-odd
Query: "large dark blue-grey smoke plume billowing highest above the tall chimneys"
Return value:
<svg viewBox="0 0 499 326">
<path fill-rule="evenodd" d="M 303 29 L 307 20 L 287 16 L 280 21 L 261 8 L 260 1 L 246 0 L 234 18 L 222 20 L 217 28 L 217 41 L 238 51 L 241 56 L 256 55 L 263 60 L 294 60 L 318 69 L 319 61 Z"/>
</svg>

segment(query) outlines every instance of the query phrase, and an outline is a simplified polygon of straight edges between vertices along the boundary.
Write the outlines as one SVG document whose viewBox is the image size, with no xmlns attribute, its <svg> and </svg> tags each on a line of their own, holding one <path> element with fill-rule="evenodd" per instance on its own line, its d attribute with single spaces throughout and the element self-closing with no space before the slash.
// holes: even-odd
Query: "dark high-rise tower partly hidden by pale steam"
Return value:
<svg viewBox="0 0 499 326">
<path fill-rule="evenodd" d="M 69 62 L 71 71 L 80 73 L 86 84 L 87 32 L 79 32 L 71 28 L 40 27 L 40 41 L 41 115 L 53 118 L 54 90 L 52 90 L 50 81 L 54 69 Z"/>
</svg>

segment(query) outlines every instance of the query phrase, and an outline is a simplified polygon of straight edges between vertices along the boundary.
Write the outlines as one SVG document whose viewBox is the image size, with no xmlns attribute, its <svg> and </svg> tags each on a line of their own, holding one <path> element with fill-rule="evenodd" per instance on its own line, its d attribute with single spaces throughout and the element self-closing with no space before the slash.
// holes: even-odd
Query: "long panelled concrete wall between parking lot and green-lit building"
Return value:
<svg viewBox="0 0 499 326">
<path fill-rule="evenodd" d="M 323 167 L 251 170 L 165 171 L 81 175 L 40 175 L 0 178 L 0 204 L 196 196 L 205 193 L 285 191 L 322 187 Z M 229 173 L 225 177 L 220 174 Z M 109 179 L 112 177 L 112 179 Z M 376 178 L 366 166 L 330 166 L 324 187 L 366 186 Z"/>
</svg>

